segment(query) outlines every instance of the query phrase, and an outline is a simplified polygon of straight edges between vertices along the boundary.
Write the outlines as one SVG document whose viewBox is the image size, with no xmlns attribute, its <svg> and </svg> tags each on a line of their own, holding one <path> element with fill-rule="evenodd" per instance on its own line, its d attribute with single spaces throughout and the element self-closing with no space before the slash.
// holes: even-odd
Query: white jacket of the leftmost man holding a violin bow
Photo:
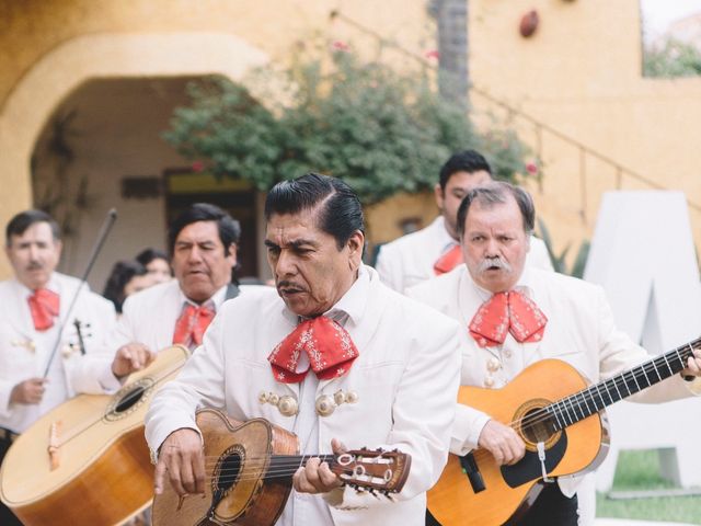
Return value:
<svg viewBox="0 0 701 526">
<path fill-rule="evenodd" d="M 64 401 L 45 399 L 42 404 L 10 404 L 10 395 L 16 384 L 44 376 L 59 325 L 62 330 L 54 359 L 62 362 L 64 378 L 53 378 L 54 371 L 58 370 L 53 369 L 49 382 L 65 381 L 69 398 L 78 392 L 104 392 L 108 378 L 104 375 L 102 361 L 93 358 L 114 329 L 116 313 L 111 301 L 91 293 L 84 284 L 66 319 L 79 286 L 80 281 L 74 277 L 51 275 L 48 288 L 60 295 L 60 315 L 55 320 L 56 329 L 45 338 L 34 329 L 27 304 L 32 291 L 16 279 L 0 283 L 0 426 L 21 433 L 53 405 Z M 80 324 L 82 350 L 76 320 Z"/>
</svg>

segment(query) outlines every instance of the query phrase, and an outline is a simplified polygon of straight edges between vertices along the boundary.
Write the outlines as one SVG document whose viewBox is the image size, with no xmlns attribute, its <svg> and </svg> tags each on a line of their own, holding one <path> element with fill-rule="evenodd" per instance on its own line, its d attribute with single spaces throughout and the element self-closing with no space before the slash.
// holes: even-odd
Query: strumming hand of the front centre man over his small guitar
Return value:
<svg viewBox="0 0 701 526">
<path fill-rule="evenodd" d="M 165 473 L 180 496 L 205 492 L 205 455 L 199 433 L 182 428 L 163 441 L 156 465 L 153 490 L 158 495 L 163 493 Z"/>
</svg>

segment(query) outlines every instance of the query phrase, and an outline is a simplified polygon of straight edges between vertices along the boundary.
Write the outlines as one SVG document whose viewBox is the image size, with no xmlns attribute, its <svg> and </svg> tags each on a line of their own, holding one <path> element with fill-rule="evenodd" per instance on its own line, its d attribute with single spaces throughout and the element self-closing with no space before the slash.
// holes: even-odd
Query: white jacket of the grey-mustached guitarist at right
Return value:
<svg viewBox="0 0 701 526">
<path fill-rule="evenodd" d="M 468 327 L 480 306 L 491 297 L 479 288 L 466 265 L 417 285 L 407 291 L 460 323 L 461 385 L 501 388 L 524 368 L 544 359 L 562 359 L 589 381 L 597 382 L 628 370 L 651 355 L 618 330 L 613 312 L 598 285 L 563 274 L 526 268 L 515 287 L 527 294 L 548 317 L 540 342 L 518 343 L 507 335 L 505 345 L 479 347 Z M 679 375 L 630 398 L 636 402 L 662 402 L 692 395 L 691 384 Z M 450 450 L 464 455 L 476 447 L 489 415 L 458 405 Z M 560 479 L 565 494 L 572 495 L 581 477 Z"/>
</svg>

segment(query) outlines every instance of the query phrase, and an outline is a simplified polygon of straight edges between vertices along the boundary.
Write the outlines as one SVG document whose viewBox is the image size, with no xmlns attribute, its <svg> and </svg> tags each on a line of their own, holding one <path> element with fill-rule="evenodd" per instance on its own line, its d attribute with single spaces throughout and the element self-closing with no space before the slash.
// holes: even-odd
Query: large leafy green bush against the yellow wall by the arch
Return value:
<svg viewBox="0 0 701 526">
<path fill-rule="evenodd" d="M 455 151 L 482 150 L 499 179 L 533 176 L 509 130 L 478 133 L 463 107 L 443 100 L 424 71 L 399 73 L 361 61 L 347 46 L 302 49 L 281 75 L 258 70 L 250 85 L 209 78 L 189 88 L 165 139 L 219 176 L 261 191 L 318 171 L 345 180 L 365 205 L 429 190 Z"/>
</svg>

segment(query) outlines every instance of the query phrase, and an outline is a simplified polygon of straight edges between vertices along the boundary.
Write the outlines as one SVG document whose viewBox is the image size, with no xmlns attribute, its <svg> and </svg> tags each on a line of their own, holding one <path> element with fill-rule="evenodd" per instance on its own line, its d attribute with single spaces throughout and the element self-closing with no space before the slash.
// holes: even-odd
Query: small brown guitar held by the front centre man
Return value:
<svg viewBox="0 0 701 526">
<path fill-rule="evenodd" d="M 153 526 L 271 526 L 283 513 L 292 474 L 310 458 L 329 462 L 348 485 L 390 496 L 402 490 L 411 456 L 359 449 L 299 456 L 297 436 L 263 419 L 237 422 L 219 411 L 197 413 L 205 448 L 204 495 L 180 498 L 165 482 L 153 499 Z"/>
</svg>

